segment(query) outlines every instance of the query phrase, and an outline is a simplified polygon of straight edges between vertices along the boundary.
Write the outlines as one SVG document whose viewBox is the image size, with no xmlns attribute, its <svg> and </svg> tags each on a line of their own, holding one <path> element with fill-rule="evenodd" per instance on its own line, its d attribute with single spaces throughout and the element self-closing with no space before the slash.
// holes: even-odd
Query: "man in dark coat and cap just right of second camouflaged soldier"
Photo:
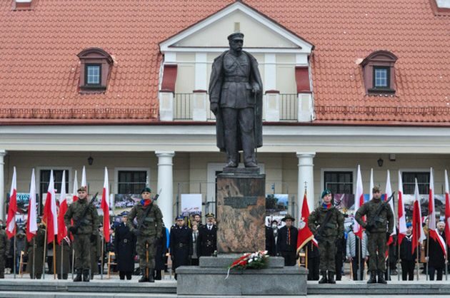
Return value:
<svg viewBox="0 0 450 298">
<path fill-rule="evenodd" d="M 184 225 L 184 217 L 176 217 L 176 223 L 170 228 L 170 256 L 175 272 L 180 266 L 187 266 L 192 256 L 192 230 Z"/>
</svg>

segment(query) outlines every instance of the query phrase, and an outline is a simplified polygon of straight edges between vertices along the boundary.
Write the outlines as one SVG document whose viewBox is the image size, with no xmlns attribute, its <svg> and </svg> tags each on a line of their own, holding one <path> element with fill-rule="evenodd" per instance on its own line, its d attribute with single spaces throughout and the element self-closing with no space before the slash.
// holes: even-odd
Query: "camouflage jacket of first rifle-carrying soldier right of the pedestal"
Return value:
<svg viewBox="0 0 450 298">
<path fill-rule="evenodd" d="M 321 229 L 322 237 L 344 237 L 344 215 L 335 207 L 326 209 L 323 206 L 316 207 L 308 217 L 308 227 L 313 235 L 317 235 L 318 230 L 325 220 L 327 212 L 332 212 L 326 226 Z"/>
</svg>

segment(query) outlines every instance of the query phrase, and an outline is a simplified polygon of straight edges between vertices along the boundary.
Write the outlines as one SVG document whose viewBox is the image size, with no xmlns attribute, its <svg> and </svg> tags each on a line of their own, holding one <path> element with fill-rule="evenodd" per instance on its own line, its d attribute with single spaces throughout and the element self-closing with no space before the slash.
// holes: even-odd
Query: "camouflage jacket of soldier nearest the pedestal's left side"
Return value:
<svg viewBox="0 0 450 298">
<path fill-rule="evenodd" d="M 149 214 L 143 219 L 146 215 L 147 208 L 151 208 Z M 126 226 L 129 228 L 130 232 L 134 232 L 137 227 L 134 225 L 134 219 L 136 218 L 136 222 L 139 225 L 139 222 L 142 221 L 142 225 L 140 227 L 141 236 L 154 236 L 154 237 L 162 237 L 163 231 L 163 222 L 162 222 L 162 213 L 159 209 L 158 205 L 152 202 L 148 206 L 144 206 L 141 202 L 134 205 L 131 211 L 128 214 L 128 219 L 126 220 Z"/>
</svg>

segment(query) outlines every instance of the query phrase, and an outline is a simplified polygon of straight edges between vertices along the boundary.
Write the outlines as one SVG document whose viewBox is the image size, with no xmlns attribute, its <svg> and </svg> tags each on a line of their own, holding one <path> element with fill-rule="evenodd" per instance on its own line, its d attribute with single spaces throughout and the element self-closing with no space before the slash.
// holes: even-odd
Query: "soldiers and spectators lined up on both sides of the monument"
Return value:
<svg viewBox="0 0 450 298">
<path fill-rule="evenodd" d="M 30 241 L 21 227 L 12 241 L 4 229 L 0 230 L 0 278 L 4 278 L 4 272 L 13 272 L 15 264 L 15 272 L 28 272 L 31 279 L 41 279 L 47 264 L 46 272 L 56 274 L 58 279 L 68 279 L 69 273 L 74 272 L 74 282 L 89 282 L 94 274 L 103 272 L 101 264 L 106 264 L 109 252 L 114 252 L 111 269 L 119 272 L 120 279 L 141 274 L 139 282 L 154 282 L 170 267 L 176 279 L 176 268 L 197 266 L 199 257 L 216 255 L 217 225 L 212 213 L 206 215 L 205 224 L 199 214 L 180 215 L 169 230 L 164 226 L 161 210 L 154 204 L 150 188 L 145 187 L 142 200 L 124 213 L 118 225 L 111 227 L 111 239 L 102 247 L 103 229 L 84 187 L 78 190 L 78 197 L 64 217 L 70 233 L 60 244 L 46 241 L 46 227 L 40 218 L 36 236 Z M 324 190 L 321 204 L 307 218 L 314 238 L 299 247 L 295 218 L 286 215 L 282 227 L 276 220 L 266 227 L 266 250 L 271 256 L 284 257 L 286 266 L 304 264 L 309 269 L 308 279 L 319 280 L 320 284 L 341 280 L 346 261 L 350 263 L 351 279 L 364 280 L 369 272 L 368 283 L 386 283 L 391 275 L 399 274 L 398 262 L 402 280 L 414 279 L 419 262 L 422 273 L 429 274 L 430 280 L 443 278 L 448 257 L 433 237 L 427 237 L 413 251 L 414 237 L 408 222 L 401 245 L 396 235 L 389 240 L 394 216 L 391 207 L 381 200 L 379 187 L 374 187 L 372 199 L 356 210 L 355 220 L 355 224 L 364 228 L 361 234 L 354 232 L 353 225 L 344 228 L 344 215 L 334 207 L 331 192 Z M 436 231 L 445 240 L 444 227 L 444 222 L 438 222 Z M 424 231 L 427 235 L 426 226 Z"/>
</svg>

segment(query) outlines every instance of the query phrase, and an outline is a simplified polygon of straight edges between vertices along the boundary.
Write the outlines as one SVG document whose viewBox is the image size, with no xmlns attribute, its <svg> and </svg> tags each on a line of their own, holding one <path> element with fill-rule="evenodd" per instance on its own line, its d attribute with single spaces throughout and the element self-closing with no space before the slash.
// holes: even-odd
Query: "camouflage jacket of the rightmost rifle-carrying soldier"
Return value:
<svg viewBox="0 0 450 298">
<path fill-rule="evenodd" d="M 366 228 L 367 222 L 371 222 L 374 220 L 376 215 L 376 210 L 379 205 L 381 205 L 383 200 L 370 200 L 369 202 L 365 202 L 364 205 L 359 207 L 358 211 L 356 211 L 355 219 L 361 225 L 361 227 Z M 362 217 L 366 216 L 366 222 L 362 220 Z M 387 226 L 387 230 L 386 230 Z M 394 213 L 391 210 L 391 207 L 386 204 L 386 207 L 381 210 L 379 215 L 379 221 L 375 222 L 375 227 L 370 232 L 389 232 L 392 233 L 394 229 Z M 368 231 L 369 232 L 369 231 Z"/>
</svg>

